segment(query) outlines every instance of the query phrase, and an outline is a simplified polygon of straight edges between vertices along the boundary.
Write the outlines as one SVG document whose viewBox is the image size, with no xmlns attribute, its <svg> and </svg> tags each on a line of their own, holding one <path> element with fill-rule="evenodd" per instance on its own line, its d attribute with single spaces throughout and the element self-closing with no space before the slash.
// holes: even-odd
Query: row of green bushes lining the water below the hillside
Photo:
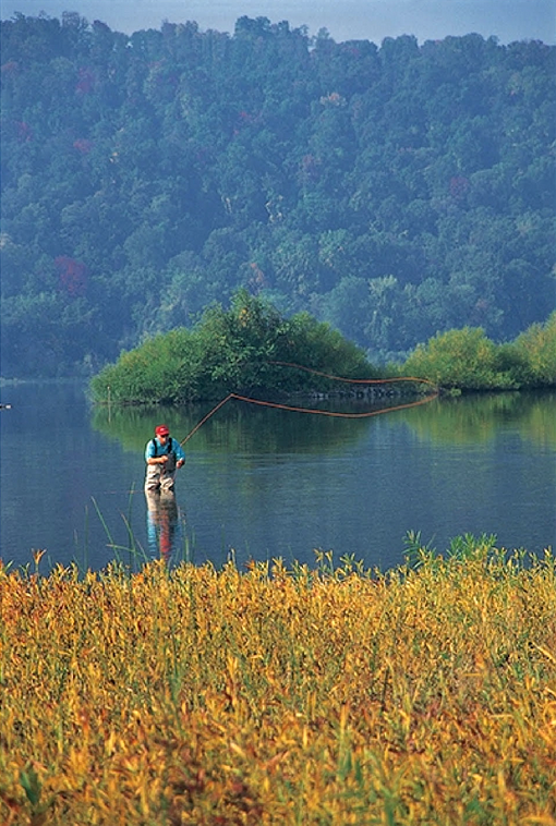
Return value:
<svg viewBox="0 0 556 826">
<path fill-rule="evenodd" d="M 337 377 L 383 378 L 386 386 L 388 377 L 401 376 L 457 391 L 556 387 L 556 312 L 506 344 L 495 344 L 481 328 L 449 330 L 419 345 L 403 365 L 377 369 L 328 324 L 307 313 L 285 318 L 240 290 L 230 309 L 215 305 L 193 329 L 178 328 L 123 352 L 90 388 L 97 402 L 184 403 L 230 392 L 349 394 L 354 385 Z"/>
</svg>

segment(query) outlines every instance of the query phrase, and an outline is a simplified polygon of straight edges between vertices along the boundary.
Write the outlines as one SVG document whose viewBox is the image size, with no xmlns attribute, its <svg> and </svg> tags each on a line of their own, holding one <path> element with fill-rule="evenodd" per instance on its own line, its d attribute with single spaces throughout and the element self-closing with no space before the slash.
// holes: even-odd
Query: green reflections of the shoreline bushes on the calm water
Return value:
<svg viewBox="0 0 556 826">
<path fill-rule="evenodd" d="M 399 400 L 390 400 L 394 406 Z M 367 405 L 365 410 L 383 409 L 385 415 L 404 421 L 421 439 L 440 445 L 484 445 L 492 441 L 500 427 L 513 425 L 523 439 L 545 446 L 556 445 L 556 393 L 504 392 L 469 393 L 452 399 L 443 397 L 422 406 L 390 413 L 380 404 Z M 118 408 L 111 417 L 106 408 L 93 412 L 93 426 L 110 438 L 117 439 L 124 450 L 142 451 L 145 434 L 149 433 L 161 415 L 160 405 L 149 408 Z M 360 412 L 361 406 L 349 408 Z M 164 416 L 172 434 L 180 439 L 207 413 L 206 405 L 168 408 Z M 365 439 L 373 418 L 328 418 L 303 415 L 271 409 L 256 409 L 243 402 L 222 408 L 197 433 L 195 450 L 209 451 L 211 455 L 230 452 L 287 452 L 318 454 L 343 451 L 350 445 Z"/>
</svg>

